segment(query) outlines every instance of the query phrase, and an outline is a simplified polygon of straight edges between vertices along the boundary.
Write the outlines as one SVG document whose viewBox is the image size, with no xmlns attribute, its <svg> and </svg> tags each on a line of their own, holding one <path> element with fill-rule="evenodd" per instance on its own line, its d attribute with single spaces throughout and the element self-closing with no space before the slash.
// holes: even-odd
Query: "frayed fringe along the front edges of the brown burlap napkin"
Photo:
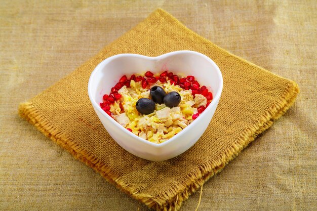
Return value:
<svg viewBox="0 0 317 211">
<path fill-rule="evenodd" d="M 253 125 L 246 128 L 241 137 L 216 160 L 209 160 L 207 163 L 202 164 L 199 168 L 194 169 L 188 174 L 181 184 L 176 184 L 168 191 L 156 196 L 139 193 L 139 190 L 133 188 L 131 184 L 125 184 L 120 178 L 116 178 L 105 163 L 100 162 L 96 157 L 78 146 L 75 140 L 70 140 L 60 131 L 56 130 L 51 122 L 46 119 L 32 103 L 21 103 L 19 105 L 19 114 L 34 124 L 39 131 L 44 133 L 51 140 L 70 152 L 75 158 L 99 172 L 108 182 L 114 184 L 118 189 L 152 209 L 157 211 L 172 211 L 175 209 L 178 210 L 183 200 L 187 199 L 189 195 L 199 189 L 209 178 L 219 173 L 223 167 L 252 142 L 258 134 L 268 129 L 274 120 L 281 117 L 293 105 L 298 93 L 299 88 L 297 83 L 290 81 L 289 86 L 279 101 L 274 103 Z"/>
</svg>

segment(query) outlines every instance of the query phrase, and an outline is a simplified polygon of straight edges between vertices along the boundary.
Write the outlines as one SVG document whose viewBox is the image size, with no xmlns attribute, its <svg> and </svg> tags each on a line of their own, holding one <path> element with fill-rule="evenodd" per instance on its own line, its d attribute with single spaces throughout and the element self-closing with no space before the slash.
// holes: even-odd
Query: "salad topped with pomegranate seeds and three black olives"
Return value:
<svg viewBox="0 0 317 211">
<path fill-rule="evenodd" d="M 213 99 L 193 75 L 123 75 L 100 107 L 131 133 L 160 144 L 181 132 Z"/>
</svg>

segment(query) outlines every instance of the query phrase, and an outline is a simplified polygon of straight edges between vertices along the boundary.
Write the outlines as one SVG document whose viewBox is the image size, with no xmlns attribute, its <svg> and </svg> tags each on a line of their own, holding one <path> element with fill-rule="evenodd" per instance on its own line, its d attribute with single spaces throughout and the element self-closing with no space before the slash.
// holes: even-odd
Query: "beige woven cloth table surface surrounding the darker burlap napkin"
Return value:
<svg viewBox="0 0 317 211">
<path fill-rule="evenodd" d="M 0 7 L 0 209 L 148 210 L 21 119 L 17 108 L 159 7 L 300 87 L 295 105 L 204 185 L 199 210 L 317 208 L 315 1 L 10 0 Z M 199 195 L 180 210 L 195 210 Z"/>
</svg>

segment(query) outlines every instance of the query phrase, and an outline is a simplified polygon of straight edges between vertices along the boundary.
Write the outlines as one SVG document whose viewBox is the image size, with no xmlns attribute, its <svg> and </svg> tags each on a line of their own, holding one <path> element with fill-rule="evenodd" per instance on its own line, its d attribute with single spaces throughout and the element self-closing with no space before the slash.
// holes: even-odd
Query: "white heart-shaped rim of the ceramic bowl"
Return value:
<svg viewBox="0 0 317 211">
<path fill-rule="evenodd" d="M 199 117 L 197 117 L 195 120 L 198 120 L 198 121 L 192 121 L 185 129 L 183 129 L 181 132 L 179 132 L 178 134 L 176 134 L 175 136 L 173 136 L 172 138 L 168 139 L 167 141 L 163 142 L 163 143 L 160 143 L 160 144 L 156 144 L 156 143 L 153 143 L 153 142 L 150 142 L 150 141 L 147 141 L 145 139 L 142 139 L 140 138 L 139 136 L 131 133 L 130 131 L 126 130 L 121 124 L 119 124 L 117 121 L 115 121 L 112 117 L 110 117 L 108 114 L 106 114 L 102 109 L 101 107 L 98 105 L 98 103 L 95 101 L 95 99 L 93 99 L 93 94 L 92 94 L 92 89 L 91 87 L 93 86 L 93 78 L 94 78 L 94 75 L 98 72 L 98 71 L 101 71 L 101 67 L 102 66 L 105 66 L 107 63 L 109 63 L 111 60 L 113 59 L 116 59 L 116 58 L 120 58 L 120 57 L 126 57 L 126 56 L 130 56 L 130 57 L 136 57 L 136 58 L 145 58 L 147 60 L 151 60 L 151 61 L 155 61 L 155 60 L 159 60 L 159 59 L 164 59 L 166 57 L 169 57 L 169 56 L 173 56 L 173 55 L 176 55 L 176 54 L 194 54 L 194 55 L 199 55 L 203 58 L 205 58 L 206 60 L 208 60 L 212 66 L 214 66 L 216 72 L 217 72 L 217 76 L 218 76 L 218 80 L 219 80 L 219 87 L 218 87 L 218 90 L 216 92 L 216 94 L 214 95 L 213 97 L 213 100 L 211 101 L 210 103 L 210 106 L 208 106 L 206 108 L 206 110 L 201 113 L 199 115 Z M 217 64 L 212 60 L 210 59 L 208 56 L 202 54 L 202 53 L 199 53 L 199 52 L 195 52 L 195 51 L 188 51 L 188 50 L 183 50 L 183 51 L 173 51 L 173 52 L 169 52 L 169 53 L 166 53 L 166 54 L 162 54 L 160 56 L 156 56 L 156 57 L 149 57 L 149 56 L 144 56 L 144 55 L 140 55 L 140 54 L 117 54 L 117 55 L 114 55 L 114 56 L 111 56 L 111 57 L 108 57 L 106 59 L 104 59 L 102 62 L 100 62 L 96 67 L 95 69 L 92 71 L 90 77 L 89 77 L 89 81 L 88 81 L 88 95 L 89 95 L 89 98 L 90 98 L 90 101 L 91 103 L 93 104 L 93 106 L 98 110 L 100 111 L 100 113 L 105 116 L 108 120 L 110 120 L 112 123 L 114 123 L 116 126 L 119 126 L 120 128 L 122 129 L 125 129 L 125 130 L 122 130 L 123 133 L 126 133 L 128 134 L 129 136 L 132 136 L 133 138 L 136 138 L 138 141 L 144 143 L 144 144 L 147 144 L 147 145 L 151 145 L 152 147 L 155 147 L 155 148 L 162 148 L 164 147 L 165 145 L 171 143 L 171 142 L 174 142 L 175 140 L 177 140 L 177 138 L 179 136 L 181 136 L 183 133 L 185 133 L 186 131 L 190 130 L 191 128 L 193 128 L 194 125 L 196 125 L 197 123 L 199 123 L 199 119 L 202 119 L 204 116 L 207 115 L 208 113 L 208 110 L 211 110 L 212 107 L 215 106 L 215 104 L 217 103 L 217 101 L 219 100 L 220 96 L 221 96 L 221 92 L 222 92 L 222 88 L 223 88 L 223 78 L 222 78 L 222 74 L 221 74 L 221 71 L 219 69 L 219 67 L 217 66 Z"/>
</svg>

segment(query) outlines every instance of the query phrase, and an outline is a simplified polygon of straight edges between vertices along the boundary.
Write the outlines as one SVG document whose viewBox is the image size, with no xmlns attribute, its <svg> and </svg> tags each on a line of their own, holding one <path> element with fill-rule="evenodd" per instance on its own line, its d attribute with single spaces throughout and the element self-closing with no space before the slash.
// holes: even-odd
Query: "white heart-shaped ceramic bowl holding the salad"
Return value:
<svg viewBox="0 0 317 211">
<path fill-rule="evenodd" d="M 212 93 L 213 100 L 206 110 L 180 133 L 162 144 L 154 144 L 129 132 L 99 106 L 102 97 L 123 76 L 165 70 L 183 76 L 193 75 Z M 119 54 L 103 60 L 92 72 L 88 83 L 91 103 L 110 136 L 128 152 L 153 161 L 173 158 L 189 149 L 203 135 L 217 108 L 223 81 L 218 66 L 209 57 L 193 51 L 176 51 L 158 57 Z"/>
</svg>

